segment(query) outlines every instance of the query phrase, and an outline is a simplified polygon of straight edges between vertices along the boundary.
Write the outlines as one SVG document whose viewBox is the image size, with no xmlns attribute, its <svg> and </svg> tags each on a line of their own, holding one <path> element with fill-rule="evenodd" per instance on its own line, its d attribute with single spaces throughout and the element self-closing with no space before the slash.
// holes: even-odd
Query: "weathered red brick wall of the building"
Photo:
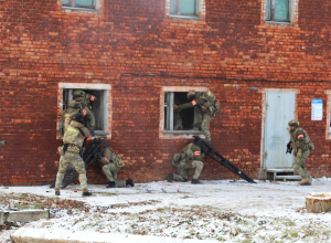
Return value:
<svg viewBox="0 0 331 243">
<path fill-rule="evenodd" d="M 64 11 L 60 0 L 0 1 L 0 183 L 41 184 L 55 179 L 57 84 L 113 86 L 111 147 L 126 167 L 119 178 L 161 180 L 189 140 L 159 139 L 163 85 L 206 86 L 222 105 L 211 123 L 213 146 L 249 176 L 260 167 L 265 87 L 298 88 L 297 116 L 316 145 L 313 176 L 330 176 L 325 140 L 330 78 L 330 3 L 300 1 L 298 23 L 265 24 L 261 2 L 205 1 L 203 21 L 170 19 L 160 0 L 103 0 L 99 13 Z M 120 74 L 173 74 L 227 78 L 171 78 Z M 277 83 L 242 81 L 303 81 Z M 233 85 L 235 84 L 235 85 Z M 258 87 L 252 89 L 249 87 Z M 311 98 L 323 98 L 324 119 L 310 120 Z M 90 182 L 98 168 L 88 169 Z M 205 160 L 201 179 L 233 178 Z M 103 178 L 103 177 L 102 177 Z"/>
</svg>

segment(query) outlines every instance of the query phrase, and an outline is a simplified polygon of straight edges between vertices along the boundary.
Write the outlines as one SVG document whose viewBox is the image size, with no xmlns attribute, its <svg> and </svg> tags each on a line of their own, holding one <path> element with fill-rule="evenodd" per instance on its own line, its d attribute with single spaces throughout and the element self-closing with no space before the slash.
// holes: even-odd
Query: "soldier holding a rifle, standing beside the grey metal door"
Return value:
<svg viewBox="0 0 331 243">
<path fill-rule="evenodd" d="M 293 154 L 296 156 L 293 169 L 302 178 L 299 184 L 310 186 L 311 177 L 307 172 L 305 165 L 310 154 L 310 150 L 314 149 L 314 146 L 310 141 L 310 138 L 308 137 L 306 130 L 299 128 L 299 122 L 290 120 L 288 123 L 288 126 L 291 136 L 290 147 L 293 149 Z"/>
</svg>

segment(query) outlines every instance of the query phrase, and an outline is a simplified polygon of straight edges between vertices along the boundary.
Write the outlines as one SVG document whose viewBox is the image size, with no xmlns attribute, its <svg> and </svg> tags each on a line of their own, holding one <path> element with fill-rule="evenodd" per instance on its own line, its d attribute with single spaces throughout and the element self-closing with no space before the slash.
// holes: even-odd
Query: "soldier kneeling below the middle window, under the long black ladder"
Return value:
<svg viewBox="0 0 331 243">
<path fill-rule="evenodd" d="M 168 173 L 168 182 L 175 181 L 188 181 L 188 170 L 193 172 L 193 179 L 191 183 L 197 184 L 199 176 L 203 168 L 203 162 L 201 161 L 205 155 L 201 152 L 201 148 L 195 146 L 193 142 L 186 145 L 179 154 L 174 154 L 172 157 L 172 166 L 175 167 L 175 173 Z"/>
</svg>

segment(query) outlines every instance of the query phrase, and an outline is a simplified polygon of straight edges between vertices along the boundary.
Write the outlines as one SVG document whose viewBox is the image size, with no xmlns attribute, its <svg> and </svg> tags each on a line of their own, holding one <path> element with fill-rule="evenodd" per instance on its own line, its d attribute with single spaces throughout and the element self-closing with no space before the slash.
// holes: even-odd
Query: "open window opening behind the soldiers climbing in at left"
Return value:
<svg viewBox="0 0 331 243">
<path fill-rule="evenodd" d="M 63 89 L 63 110 L 67 109 L 67 104 L 73 99 L 74 88 Z M 90 102 L 92 113 L 95 116 L 95 135 L 107 134 L 107 91 L 103 89 L 82 89 L 87 94 L 94 95 L 96 99 Z"/>
</svg>

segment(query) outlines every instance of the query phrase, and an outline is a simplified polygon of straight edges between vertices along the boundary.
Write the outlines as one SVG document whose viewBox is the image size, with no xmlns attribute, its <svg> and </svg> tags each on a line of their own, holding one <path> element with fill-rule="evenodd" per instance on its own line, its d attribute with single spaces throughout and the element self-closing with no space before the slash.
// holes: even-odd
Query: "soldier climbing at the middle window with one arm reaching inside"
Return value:
<svg viewBox="0 0 331 243">
<path fill-rule="evenodd" d="M 182 104 L 182 105 L 173 105 L 174 110 L 182 110 L 186 108 L 192 108 L 196 106 L 197 113 L 197 124 L 201 124 L 201 129 L 205 136 L 205 141 L 211 144 L 211 133 L 210 133 L 210 123 L 214 118 L 215 114 L 220 110 L 221 105 L 216 101 L 215 95 L 207 91 L 207 92 L 188 92 L 188 98 L 193 99 L 192 102 Z"/>
</svg>

